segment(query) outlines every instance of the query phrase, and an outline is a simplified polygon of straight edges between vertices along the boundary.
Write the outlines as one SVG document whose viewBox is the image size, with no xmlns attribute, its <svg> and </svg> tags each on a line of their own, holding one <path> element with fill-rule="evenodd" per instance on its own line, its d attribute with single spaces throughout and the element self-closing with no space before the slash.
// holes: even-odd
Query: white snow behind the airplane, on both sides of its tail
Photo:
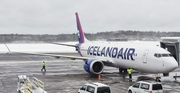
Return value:
<svg viewBox="0 0 180 93">
<path fill-rule="evenodd" d="M 106 41 L 94 41 L 102 43 L 136 43 L 142 45 L 153 45 L 159 46 L 159 41 L 128 41 L 128 42 L 106 42 Z M 77 44 L 77 42 L 66 42 L 67 44 Z M 51 52 L 51 53 L 60 53 L 60 52 L 76 52 L 74 47 L 47 44 L 47 43 L 36 43 L 36 44 L 7 44 L 9 49 L 13 52 Z M 8 49 L 5 44 L 0 44 L 0 53 L 6 53 Z"/>
</svg>

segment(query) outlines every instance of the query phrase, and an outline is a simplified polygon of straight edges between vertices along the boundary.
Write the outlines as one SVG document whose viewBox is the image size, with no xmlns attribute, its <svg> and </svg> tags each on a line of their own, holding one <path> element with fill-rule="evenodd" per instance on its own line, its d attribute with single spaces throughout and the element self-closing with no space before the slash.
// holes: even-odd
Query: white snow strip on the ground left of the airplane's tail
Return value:
<svg viewBox="0 0 180 93">
<path fill-rule="evenodd" d="M 76 42 L 68 42 L 69 44 L 76 44 Z M 7 44 L 10 51 L 13 52 L 76 52 L 74 47 L 67 47 L 55 44 Z M 8 52 L 5 44 L 0 44 L 0 53 Z"/>
</svg>

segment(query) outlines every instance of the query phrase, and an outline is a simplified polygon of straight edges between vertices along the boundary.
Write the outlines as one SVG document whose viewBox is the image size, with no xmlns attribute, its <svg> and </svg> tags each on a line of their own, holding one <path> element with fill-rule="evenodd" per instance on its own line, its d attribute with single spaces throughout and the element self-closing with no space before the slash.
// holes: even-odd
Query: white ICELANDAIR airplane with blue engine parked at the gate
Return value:
<svg viewBox="0 0 180 93">
<path fill-rule="evenodd" d="M 69 58 L 84 60 L 84 69 L 88 73 L 101 74 L 104 66 L 111 66 L 119 68 L 120 72 L 126 71 L 127 68 L 133 68 L 141 72 L 163 73 L 164 76 L 167 76 L 169 72 L 178 67 L 177 61 L 171 56 L 170 52 L 161 47 L 88 41 L 83 33 L 78 13 L 75 13 L 75 15 L 79 31 L 79 43 L 77 45 L 54 44 L 75 47 L 81 57 Z"/>
</svg>

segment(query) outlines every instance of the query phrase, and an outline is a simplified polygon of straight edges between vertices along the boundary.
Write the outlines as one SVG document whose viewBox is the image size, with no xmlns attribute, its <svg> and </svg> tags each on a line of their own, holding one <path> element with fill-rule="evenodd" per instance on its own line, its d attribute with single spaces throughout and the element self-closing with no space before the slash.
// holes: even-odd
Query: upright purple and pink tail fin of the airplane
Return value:
<svg viewBox="0 0 180 93">
<path fill-rule="evenodd" d="M 80 20 L 79 20 L 78 13 L 76 12 L 75 15 L 76 15 L 77 29 L 79 31 L 78 40 L 79 40 L 79 43 L 84 43 L 84 42 L 86 42 L 88 40 L 84 36 L 84 32 L 83 32 L 82 27 L 81 27 L 81 23 L 80 23 Z"/>
</svg>

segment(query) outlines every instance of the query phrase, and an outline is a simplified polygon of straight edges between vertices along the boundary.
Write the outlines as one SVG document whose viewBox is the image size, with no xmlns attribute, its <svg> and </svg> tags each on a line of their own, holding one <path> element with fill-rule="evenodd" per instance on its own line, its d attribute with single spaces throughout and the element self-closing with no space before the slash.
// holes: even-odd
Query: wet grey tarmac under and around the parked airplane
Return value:
<svg viewBox="0 0 180 93">
<path fill-rule="evenodd" d="M 46 62 L 46 73 L 42 73 L 41 62 Z M 118 74 L 117 68 L 105 67 L 101 75 L 101 81 L 97 76 L 88 74 L 83 69 L 82 60 L 55 59 L 53 57 L 42 57 L 35 55 L 0 55 L 0 93 L 17 93 L 17 76 L 27 75 L 36 77 L 45 83 L 45 90 L 48 93 L 77 93 L 78 89 L 88 82 L 101 82 L 111 87 L 112 93 L 126 93 L 130 85 L 136 82 L 140 76 L 155 77 L 155 74 L 133 73 L 133 81 L 129 82 Z M 180 75 L 180 69 L 170 73 L 169 77 L 162 77 L 161 81 L 165 93 L 180 93 L 180 78 L 173 78 Z M 160 76 L 162 76 L 160 74 Z"/>
</svg>

